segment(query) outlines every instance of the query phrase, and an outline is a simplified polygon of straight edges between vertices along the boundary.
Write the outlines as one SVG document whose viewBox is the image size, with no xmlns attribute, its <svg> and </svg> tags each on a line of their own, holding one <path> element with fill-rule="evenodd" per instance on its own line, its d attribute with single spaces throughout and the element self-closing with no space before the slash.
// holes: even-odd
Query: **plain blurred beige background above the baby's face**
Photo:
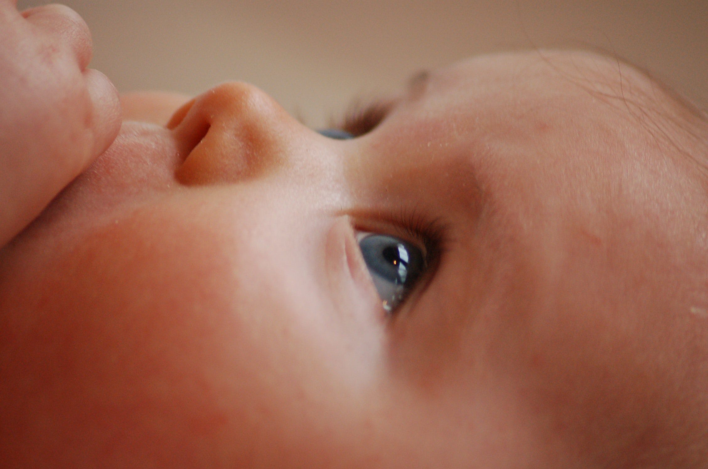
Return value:
<svg viewBox="0 0 708 469">
<path fill-rule="evenodd" d="M 18 2 L 21 8 L 46 2 Z M 249 81 L 307 123 L 480 52 L 592 45 L 708 103 L 708 0 L 65 0 L 120 91 Z"/>
</svg>

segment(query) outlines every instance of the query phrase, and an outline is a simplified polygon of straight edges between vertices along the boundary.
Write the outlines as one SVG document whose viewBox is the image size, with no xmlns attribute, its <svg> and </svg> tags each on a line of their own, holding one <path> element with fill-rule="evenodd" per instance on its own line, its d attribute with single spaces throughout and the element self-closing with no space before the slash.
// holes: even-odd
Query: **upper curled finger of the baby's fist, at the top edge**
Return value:
<svg viewBox="0 0 708 469">
<path fill-rule="evenodd" d="M 30 8 L 22 16 L 36 27 L 67 44 L 76 54 L 81 70 L 91 62 L 93 47 L 91 31 L 79 13 L 65 5 L 45 5 Z"/>
</svg>

